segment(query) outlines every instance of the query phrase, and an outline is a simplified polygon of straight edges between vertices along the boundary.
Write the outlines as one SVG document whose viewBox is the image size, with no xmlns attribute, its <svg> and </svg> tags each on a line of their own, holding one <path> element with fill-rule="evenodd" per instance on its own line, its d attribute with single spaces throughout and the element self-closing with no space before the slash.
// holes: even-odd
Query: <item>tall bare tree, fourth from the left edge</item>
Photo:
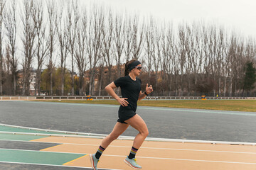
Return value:
<svg viewBox="0 0 256 170">
<path fill-rule="evenodd" d="M 46 24 L 43 21 L 43 16 L 42 1 L 35 1 L 35 6 L 33 6 L 33 21 L 36 28 L 36 60 L 38 62 L 38 67 L 36 69 L 35 96 L 37 91 L 38 96 L 41 94 L 41 72 L 43 62 L 45 61 L 48 52 L 46 45 Z"/>
</svg>

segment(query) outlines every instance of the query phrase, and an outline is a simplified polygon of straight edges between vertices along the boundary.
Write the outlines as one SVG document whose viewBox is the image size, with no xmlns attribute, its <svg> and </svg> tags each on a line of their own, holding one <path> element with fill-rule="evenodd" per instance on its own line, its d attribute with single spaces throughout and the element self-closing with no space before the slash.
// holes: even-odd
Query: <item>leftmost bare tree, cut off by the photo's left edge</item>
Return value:
<svg viewBox="0 0 256 170">
<path fill-rule="evenodd" d="M 3 33 L 2 24 L 4 21 L 4 6 L 6 4 L 5 0 L 0 0 L 0 96 L 3 95 Z"/>
</svg>

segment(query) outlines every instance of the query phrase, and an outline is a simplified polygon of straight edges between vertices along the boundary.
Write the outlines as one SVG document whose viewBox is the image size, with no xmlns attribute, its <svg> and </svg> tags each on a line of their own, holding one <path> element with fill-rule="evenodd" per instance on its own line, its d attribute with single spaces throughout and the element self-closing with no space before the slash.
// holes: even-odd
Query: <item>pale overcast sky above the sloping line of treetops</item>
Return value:
<svg viewBox="0 0 256 170">
<path fill-rule="evenodd" d="M 97 1 L 121 11 L 152 15 L 172 21 L 219 23 L 229 31 L 256 38 L 256 0 L 87 0 Z"/>
</svg>

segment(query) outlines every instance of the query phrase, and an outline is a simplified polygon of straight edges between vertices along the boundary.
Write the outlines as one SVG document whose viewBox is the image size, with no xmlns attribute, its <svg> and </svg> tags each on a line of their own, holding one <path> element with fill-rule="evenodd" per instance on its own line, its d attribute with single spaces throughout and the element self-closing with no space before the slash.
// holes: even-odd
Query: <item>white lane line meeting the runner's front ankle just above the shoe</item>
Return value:
<svg viewBox="0 0 256 170">
<path fill-rule="evenodd" d="M 25 151 L 25 152 L 50 152 L 50 151 L 33 151 L 33 150 L 25 150 L 25 149 L 2 149 L 1 150 L 14 150 L 14 151 Z M 50 152 L 50 153 L 60 153 L 60 154 L 82 154 L 82 153 L 69 153 L 69 152 Z M 112 155 L 112 154 L 104 154 L 107 157 L 127 157 L 124 155 Z M 211 161 L 211 160 L 199 160 L 199 159 L 177 159 L 177 158 L 161 158 L 161 157 L 137 157 L 137 158 L 144 158 L 144 159 L 164 159 L 164 160 L 177 160 L 177 161 L 191 161 L 191 162 L 216 162 L 216 163 L 227 163 L 227 164 L 253 164 L 256 165 L 254 162 L 223 162 L 223 161 Z"/>
</svg>

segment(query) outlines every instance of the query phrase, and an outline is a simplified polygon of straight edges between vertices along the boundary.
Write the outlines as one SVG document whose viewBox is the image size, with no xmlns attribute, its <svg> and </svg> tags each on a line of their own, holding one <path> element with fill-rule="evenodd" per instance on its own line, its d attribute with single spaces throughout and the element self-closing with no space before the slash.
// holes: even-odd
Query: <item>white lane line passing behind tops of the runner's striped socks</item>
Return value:
<svg viewBox="0 0 256 170">
<path fill-rule="evenodd" d="M 14 141 L 14 142 L 38 142 L 38 141 L 23 141 L 23 140 L 0 140 L 0 141 Z M 81 146 L 92 146 L 98 147 L 99 145 L 92 144 L 75 144 L 69 142 L 38 142 L 38 143 L 52 143 L 58 145 L 81 145 Z M 109 147 L 125 147 L 127 146 L 118 146 L 118 145 L 110 145 Z M 47 149 L 47 148 L 46 148 Z M 201 149 L 177 149 L 177 148 L 164 148 L 164 147 L 140 147 L 140 149 L 164 149 L 164 150 L 178 150 L 178 151 L 191 151 L 191 152 L 220 152 L 220 153 L 232 153 L 232 154 L 256 154 L 256 152 L 234 152 L 234 151 L 220 151 L 220 150 L 201 150 Z"/>
</svg>

